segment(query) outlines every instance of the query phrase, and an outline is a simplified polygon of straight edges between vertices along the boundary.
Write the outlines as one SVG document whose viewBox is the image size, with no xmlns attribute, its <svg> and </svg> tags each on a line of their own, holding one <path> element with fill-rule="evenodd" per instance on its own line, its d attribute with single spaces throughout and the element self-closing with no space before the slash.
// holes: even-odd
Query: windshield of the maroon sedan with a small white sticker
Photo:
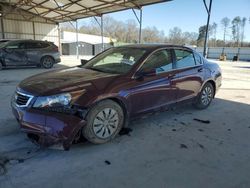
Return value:
<svg viewBox="0 0 250 188">
<path fill-rule="evenodd" d="M 100 72 L 125 74 L 144 55 L 146 50 L 138 48 L 110 48 L 91 59 L 83 67 Z"/>
</svg>

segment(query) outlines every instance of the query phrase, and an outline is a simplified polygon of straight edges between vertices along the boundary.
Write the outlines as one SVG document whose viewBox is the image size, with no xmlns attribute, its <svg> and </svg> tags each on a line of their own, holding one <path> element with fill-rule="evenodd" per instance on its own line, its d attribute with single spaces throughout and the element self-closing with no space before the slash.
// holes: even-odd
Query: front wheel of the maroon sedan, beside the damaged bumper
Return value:
<svg viewBox="0 0 250 188">
<path fill-rule="evenodd" d="M 104 100 L 90 109 L 82 135 L 91 143 L 104 144 L 120 132 L 124 124 L 124 112 L 119 104 Z"/>
</svg>

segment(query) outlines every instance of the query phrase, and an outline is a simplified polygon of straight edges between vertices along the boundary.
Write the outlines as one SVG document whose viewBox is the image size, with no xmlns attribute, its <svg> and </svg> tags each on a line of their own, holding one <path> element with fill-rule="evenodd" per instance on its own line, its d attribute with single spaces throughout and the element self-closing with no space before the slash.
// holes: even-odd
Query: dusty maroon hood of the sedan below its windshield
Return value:
<svg viewBox="0 0 250 188">
<path fill-rule="evenodd" d="M 40 73 L 26 78 L 18 85 L 18 89 L 35 96 L 54 95 L 89 87 L 91 87 L 91 89 L 94 87 L 98 90 L 105 87 L 117 76 L 117 74 L 72 67 Z"/>
</svg>

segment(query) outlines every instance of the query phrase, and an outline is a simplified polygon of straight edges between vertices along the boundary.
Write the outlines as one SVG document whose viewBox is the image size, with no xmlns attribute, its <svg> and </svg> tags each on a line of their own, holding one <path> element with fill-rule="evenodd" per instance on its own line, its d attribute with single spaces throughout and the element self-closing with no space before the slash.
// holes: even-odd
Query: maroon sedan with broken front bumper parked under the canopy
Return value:
<svg viewBox="0 0 250 188">
<path fill-rule="evenodd" d="M 129 45 L 23 80 L 12 109 L 30 137 L 68 149 L 79 135 L 108 142 L 129 119 L 178 102 L 205 109 L 220 85 L 219 66 L 190 48 Z"/>
</svg>

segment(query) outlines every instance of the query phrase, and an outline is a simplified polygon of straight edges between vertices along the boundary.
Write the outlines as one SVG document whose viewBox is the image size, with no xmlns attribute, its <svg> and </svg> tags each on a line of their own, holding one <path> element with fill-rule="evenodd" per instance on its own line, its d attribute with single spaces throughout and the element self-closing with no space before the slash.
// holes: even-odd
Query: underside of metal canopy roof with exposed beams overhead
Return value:
<svg viewBox="0 0 250 188">
<path fill-rule="evenodd" d="M 74 21 L 81 18 L 126 10 L 171 0 L 2 0 L 54 22 Z"/>
</svg>

